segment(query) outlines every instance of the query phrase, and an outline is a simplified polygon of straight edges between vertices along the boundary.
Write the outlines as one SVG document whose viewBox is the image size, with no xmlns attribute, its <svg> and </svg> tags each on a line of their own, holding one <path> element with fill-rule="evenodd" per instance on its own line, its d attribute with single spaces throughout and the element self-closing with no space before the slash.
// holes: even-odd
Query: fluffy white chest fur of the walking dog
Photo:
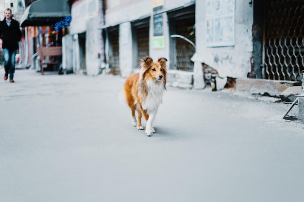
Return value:
<svg viewBox="0 0 304 202">
<path fill-rule="evenodd" d="M 164 86 L 162 81 L 148 80 L 148 96 L 142 103 L 142 108 L 147 110 L 147 113 L 155 112 L 162 103 Z"/>
</svg>

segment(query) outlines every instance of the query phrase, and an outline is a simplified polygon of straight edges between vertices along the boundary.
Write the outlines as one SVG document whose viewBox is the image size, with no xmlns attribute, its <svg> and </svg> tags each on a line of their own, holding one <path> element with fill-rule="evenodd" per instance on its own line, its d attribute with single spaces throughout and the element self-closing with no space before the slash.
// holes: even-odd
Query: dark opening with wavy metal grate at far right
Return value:
<svg viewBox="0 0 304 202">
<path fill-rule="evenodd" d="M 304 69 L 304 0 L 266 0 L 265 78 L 300 81 Z"/>
</svg>

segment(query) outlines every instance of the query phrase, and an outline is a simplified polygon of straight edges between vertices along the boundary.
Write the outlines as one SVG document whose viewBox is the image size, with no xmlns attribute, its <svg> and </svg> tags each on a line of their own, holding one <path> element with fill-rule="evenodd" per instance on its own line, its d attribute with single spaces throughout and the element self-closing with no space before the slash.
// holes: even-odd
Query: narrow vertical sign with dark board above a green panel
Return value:
<svg viewBox="0 0 304 202">
<path fill-rule="evenodd" d="M 158 11 L 162 10 L 164 7 L 164 0 L 152 0 L 153 6 L 153 38 L 152 47 L 153 48 L 164 48 L 164 14 L 156 14 Z"/>
</svg>

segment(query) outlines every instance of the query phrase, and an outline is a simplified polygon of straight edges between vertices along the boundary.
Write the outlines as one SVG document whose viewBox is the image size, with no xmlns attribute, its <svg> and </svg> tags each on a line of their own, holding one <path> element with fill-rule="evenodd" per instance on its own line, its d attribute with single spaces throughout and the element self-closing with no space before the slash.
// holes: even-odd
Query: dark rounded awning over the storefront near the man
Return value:
<svg viewBox="0 0 304 202">
<path fill-rule="evenodd" d="M 70 16 L 68 0 L 36 0 L 20 18 L 20 26 L 46 26 Z"/>
</svg>

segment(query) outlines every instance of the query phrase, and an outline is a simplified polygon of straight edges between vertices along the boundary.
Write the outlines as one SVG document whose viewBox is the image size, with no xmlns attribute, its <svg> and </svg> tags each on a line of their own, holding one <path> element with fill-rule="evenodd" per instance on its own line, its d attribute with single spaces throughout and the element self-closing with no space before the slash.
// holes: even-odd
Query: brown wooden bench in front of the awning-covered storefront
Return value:
<svg viewBox="0 0 304 202">
<path fill-rule="evenodd" d="M 40 68 L 41 74 L 43 75 L 43 65 L 44 64 L 59 64 L 58 60 L 45 60 L 45 56 L 61 56 L 62 47 L 37 47 L 37 56 L 40 56 Z"/>
</svg>

